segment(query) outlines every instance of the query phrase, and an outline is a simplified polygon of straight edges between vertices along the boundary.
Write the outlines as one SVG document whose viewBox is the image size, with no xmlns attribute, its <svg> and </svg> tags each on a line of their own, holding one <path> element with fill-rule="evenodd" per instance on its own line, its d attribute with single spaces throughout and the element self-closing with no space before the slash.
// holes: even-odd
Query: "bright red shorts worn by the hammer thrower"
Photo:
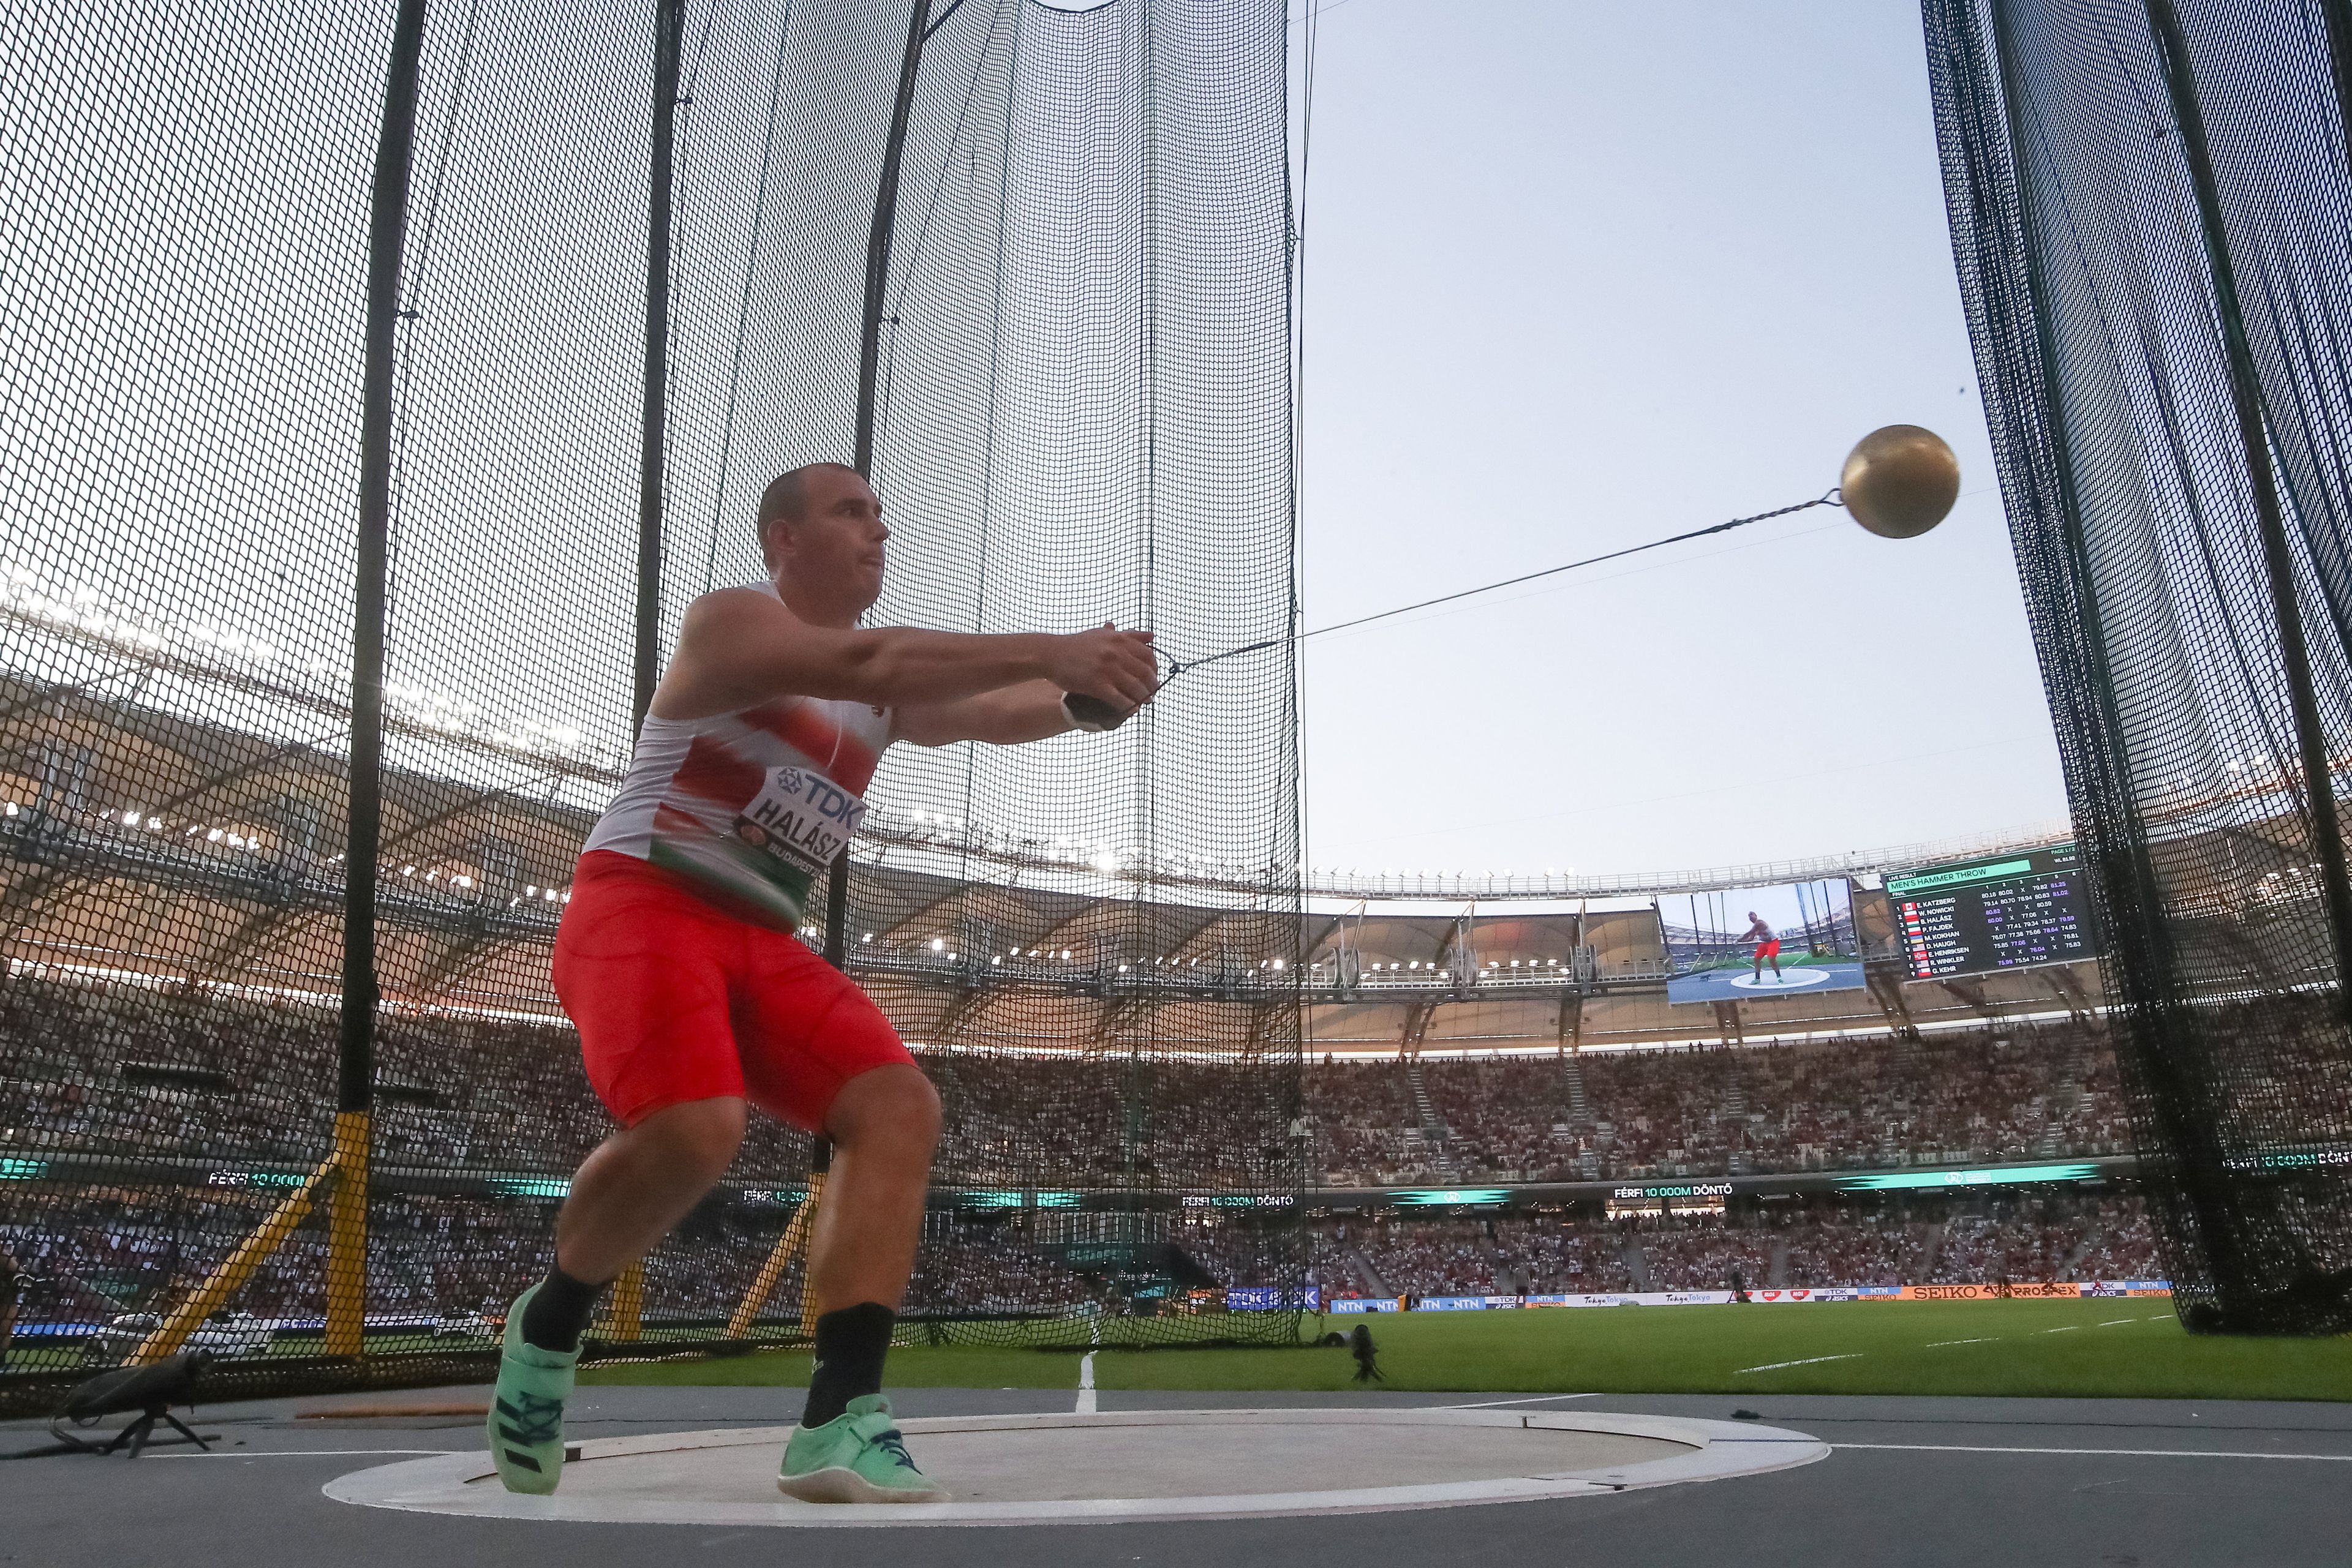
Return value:
<svg viewBox="0 0 2352 1568">
<path fill-rule="evenodd" d="M 555 933 L 555 997 L 621 1126 L 743 1098 L 814 1133 L 842 1084 L 915 1060 L 873 997 L 800 940 L 612 849 L 581 856 Z"/>
</svg>

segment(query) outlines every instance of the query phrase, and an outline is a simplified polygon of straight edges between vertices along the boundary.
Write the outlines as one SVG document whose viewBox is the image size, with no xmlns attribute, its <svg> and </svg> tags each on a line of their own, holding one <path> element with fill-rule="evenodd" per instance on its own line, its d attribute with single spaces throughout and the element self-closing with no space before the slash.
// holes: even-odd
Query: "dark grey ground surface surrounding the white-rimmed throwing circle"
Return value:
<svg viewBox="0 0 2352 1568">
<path fill-rule="evenodd" d="M 2096 1563 L 2112 1568 L 2347 1561 L 2352 1408 L 2089 1399 L 1750 1399 L 1766 1422 L 1839 1443 L 1955 1448 L 2129 1448 L 2117 1453 L 1933 1453 L 1839 1448 L 1820 1465 L 1618 1497 L 1522 1502 L 1345 1519 L 1051 1528 L 776 1530 L 433 1519 L 332 1502 L 320 1486 L 400 1453 L 480 1448 L 463 1418 L 294 1420 L 301 1408 L 416 1406 L 485 1389 L 219 1406 L 195 1422 L 226 1458 L 165 1448 L 143 1460 L 45 1458 L 0 1465 L 0 1563 L 111 1568 L 564 1568 L 894 1566 L 938 1568 L 1284 1563 Z M 903 1415 L 1068 1410 L 1070 1394 L 908 1389 Z M 1489 1403 L 1496 1394 L 1369 1394 L 1381 1403 Z M 1329 1394 L 1122 1394 L 1117 1408 L 1329 1406 Z M 1726 1418 L 1731 1396 L 1543 1401 Z M 781 1425 L 776 1389 L 593 1387 L 574 1436 Z M 0 1425 L 0 1450 L 45 1443 L 35 1422 Z M 343 1450 L 343 1453 L 332 1453 Z M 2218 1458 L 2340 1455 L 2340 1460 Z M 2178 1458 L 2176 1458 L 2178 1455 Z M 2194 1458 L 2216 1455 L 2216 1458 Z M 1334 1476 L 1334 1483 L 1345 1483 Z M 913 1552 L 922 1552 L 920 1559 Z"/>
</svg>

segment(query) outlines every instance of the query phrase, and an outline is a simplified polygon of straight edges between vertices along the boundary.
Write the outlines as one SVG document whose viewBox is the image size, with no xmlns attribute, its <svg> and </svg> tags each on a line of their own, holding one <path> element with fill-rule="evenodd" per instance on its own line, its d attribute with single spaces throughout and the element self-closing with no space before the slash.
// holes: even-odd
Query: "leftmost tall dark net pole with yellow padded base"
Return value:
<svg viewBox="0 0 2352 1568">
<path fill-rule="evenodd" d="M 343 849 L 343 1018 L 327 1234 L 327 1354 L 365 1349 L 367 1143 L 376 1103 L 376 853 L 383 835 L 383 609 L 393 529 L 393 374 L 400 259 L 416 162 L 426 0 L 400 0 L 367 214 L 367 369 L 360 383 L 360 538 L 350 595 L 350 818 Z M 358 1161 L 350 1152 L 358 1150 Z"/>
</svg>

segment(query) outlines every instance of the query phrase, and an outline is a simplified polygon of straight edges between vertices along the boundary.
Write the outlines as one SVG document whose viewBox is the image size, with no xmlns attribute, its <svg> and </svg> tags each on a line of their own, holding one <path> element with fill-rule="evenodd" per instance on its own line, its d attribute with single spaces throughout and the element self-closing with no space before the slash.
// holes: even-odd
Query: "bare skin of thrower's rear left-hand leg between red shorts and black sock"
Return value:
<svg viewBox="0 0 2352 1568">
<path fill-rule="evenodd" d="M 727 1175 L 743 1100 L 666 1105 L 600 1143 L 555 1215 L 555 1262 L 586 1284 L 616 1279 Z"/>
</svg>

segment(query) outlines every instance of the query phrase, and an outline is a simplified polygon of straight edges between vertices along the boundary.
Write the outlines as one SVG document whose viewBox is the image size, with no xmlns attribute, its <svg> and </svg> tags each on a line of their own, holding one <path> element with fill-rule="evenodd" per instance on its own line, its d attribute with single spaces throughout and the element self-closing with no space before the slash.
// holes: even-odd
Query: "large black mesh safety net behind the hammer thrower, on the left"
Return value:
<svg viewBox="0 0 2352 1568">
<path fill-rule="evenodd" d="M 873 623 L 1291 630 L 1284 38 L 1263 0 L 0 16 L 0 1401 L 179 1349 L 212 1387 L 487 1363 L 612 1126 L 548 952 L 628 762 L 644 524 L 666 646 L 762 576 L 762 487 L 851 458 L 868 329 Z M 1294 736 L 1275 646 L 1112 733 L 887 752 L 840 936 L 946 1103 L 906 1335 L 1296 1335 Z M 593 1354 L 804 1335 L 811 1164 L 755 1117 Z"/>
</svg>

